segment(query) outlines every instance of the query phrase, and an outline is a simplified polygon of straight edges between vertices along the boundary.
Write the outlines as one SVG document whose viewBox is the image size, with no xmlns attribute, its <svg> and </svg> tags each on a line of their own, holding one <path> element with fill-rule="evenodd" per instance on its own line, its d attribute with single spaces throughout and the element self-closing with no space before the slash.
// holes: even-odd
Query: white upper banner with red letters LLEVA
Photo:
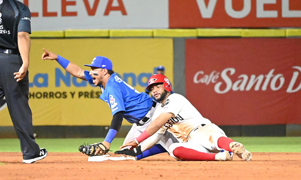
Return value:
<svg viewBox="0 0 301 180">
<path fill-rule="evenodd" d="M 168 28 L 168 1 L 20 1 L 31 11 L 32 31 Z"/>
</svg>

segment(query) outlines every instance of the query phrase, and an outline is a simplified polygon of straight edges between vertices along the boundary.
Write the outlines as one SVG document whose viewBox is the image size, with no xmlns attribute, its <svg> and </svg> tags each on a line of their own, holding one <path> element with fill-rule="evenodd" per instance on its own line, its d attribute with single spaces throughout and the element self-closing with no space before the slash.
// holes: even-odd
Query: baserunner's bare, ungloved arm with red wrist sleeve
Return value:
<svg viewBox="0 0 301 180">
<path fill-rule="evenodd" d="M 134 141 L 131 141 L 129 143 L 126 143 L 122 146 L 120 146 L 120 149 L 126 147 L 126 146 L 132 146 L 131 149 L 138 146 L 139 143 L 146 140 L 148 137 L 155 134 L 157 131 L 162 128 L 162 126 L 170 119 L 171 117 L 175 117 L 172 113 L 161 113 L 153 122 L 150 123 L 150 125 L 147 126 L 146 130 L 140 134 L 139 137 L 137 137 Z"/>
</svg>

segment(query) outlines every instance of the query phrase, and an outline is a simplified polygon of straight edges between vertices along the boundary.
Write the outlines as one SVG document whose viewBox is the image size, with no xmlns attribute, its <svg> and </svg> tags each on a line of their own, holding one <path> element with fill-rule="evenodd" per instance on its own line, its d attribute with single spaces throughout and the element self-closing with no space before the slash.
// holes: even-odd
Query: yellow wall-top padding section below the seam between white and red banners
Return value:
<svg viewBox="0 0 301 180">
<path fill-rule="evenodd" d="M 154 37 L 197 37 L 197 29 L 155 29 Z"/>
</svg>

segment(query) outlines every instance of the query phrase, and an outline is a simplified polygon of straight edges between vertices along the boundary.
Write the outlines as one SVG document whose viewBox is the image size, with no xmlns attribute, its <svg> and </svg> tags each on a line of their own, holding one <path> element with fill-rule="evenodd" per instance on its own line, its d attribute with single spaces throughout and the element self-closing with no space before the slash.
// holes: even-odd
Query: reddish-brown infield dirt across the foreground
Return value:
<svg viewBox="0 0 301 180">
<path fill-rule="evenodd" d="M 0 179 L 299 179 L 301 153 L 253 153 L 246 162 L 175 161 L 167 153 L 140 161 L 88 162 L 81 153 L 49 153 L 45 159 L 23 164 L 22 154 L 0 152 Z"/>
</svg>

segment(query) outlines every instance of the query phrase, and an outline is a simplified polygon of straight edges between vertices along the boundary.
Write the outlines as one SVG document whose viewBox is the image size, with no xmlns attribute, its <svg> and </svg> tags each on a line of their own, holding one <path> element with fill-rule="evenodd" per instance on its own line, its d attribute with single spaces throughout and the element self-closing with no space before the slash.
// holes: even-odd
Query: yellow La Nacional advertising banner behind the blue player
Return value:
<svg viewBox="0 0 301 180">
<path fill-rule="evenodd" d="M 110 107 L 99 99 L 101 89 L 73 77 L 56 61 L 42 61 L 42 48 L 84 70 L 90 70 L 84 64 L 90 64 L 95 56 L 106 56 L 118 76 L 139 92 L 145 91 L 159 65 L 173 82 L 172 39 L 33 39 L 29 64 L 33 125 L 110 125 L 112 120 Z M 0 109 L 0 125 L 12 125 L 5 104 Z"/>
</svg>

